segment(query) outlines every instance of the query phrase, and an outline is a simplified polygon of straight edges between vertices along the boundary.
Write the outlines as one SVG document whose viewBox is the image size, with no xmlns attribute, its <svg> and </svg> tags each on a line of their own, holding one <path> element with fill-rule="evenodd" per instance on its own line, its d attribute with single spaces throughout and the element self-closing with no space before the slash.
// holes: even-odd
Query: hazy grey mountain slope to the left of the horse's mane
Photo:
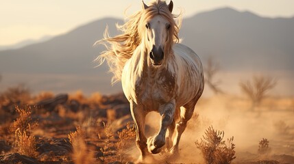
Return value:
<svg viewBox="0 0 294 164">
<path fill-rule="evenodd" d="M 120 85 L 110 85 L 111 74 L 107 74 L 106 64 L 94 68 L 97 63 L 93 63 L 103 51 L 103 46 L 93 47 L 93 44 L 102 38 L 106 25 L 116 35 L 115 23 L 123 22 L 115 18 L 103 18 L 47 42 L 0 51 L 0 74 L 3 77 L 0 90 L 8 85 L 26 83 L 33 92 L 121 91 Z"/>
</svg>

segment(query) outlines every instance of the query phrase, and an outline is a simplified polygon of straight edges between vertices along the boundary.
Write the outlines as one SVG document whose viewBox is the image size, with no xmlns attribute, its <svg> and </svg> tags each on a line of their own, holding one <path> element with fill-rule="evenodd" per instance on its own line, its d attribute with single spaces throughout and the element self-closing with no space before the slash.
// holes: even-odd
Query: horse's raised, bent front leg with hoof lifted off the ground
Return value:
<svg viewBox="0 0 294 164">
<path fill-rule="evenodd" d="M 160 105 L 159 109 L 160 118 L 160 131 L 158 131 L 156 136 L 149 137 L 147 140 L 148 151 L 157 154 L 161 151 L 160 148 L 165 144 L 165 135 L 167 133 L 167 128 L 173 122 L 173 115 L 175 114 L 175 100 L 168 102 L 164 105 Z"/>
</svg>

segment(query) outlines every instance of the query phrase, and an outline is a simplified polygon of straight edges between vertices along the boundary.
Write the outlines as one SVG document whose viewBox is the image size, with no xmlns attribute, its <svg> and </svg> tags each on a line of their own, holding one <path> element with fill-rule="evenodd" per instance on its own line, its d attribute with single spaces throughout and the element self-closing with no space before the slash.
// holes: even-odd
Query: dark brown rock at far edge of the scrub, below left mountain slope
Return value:
<svg viewBox="0 0 294 164">
<path fill-rule="evenodd" d="M 68 94 L 58 94 L 54 98 L 48 98 L 46 100 L 40 100 L 36 105 L 47 109 L 48 111 L 53 111 L 57 105 L 65 104 L 68 100 Z"/>
</svg>

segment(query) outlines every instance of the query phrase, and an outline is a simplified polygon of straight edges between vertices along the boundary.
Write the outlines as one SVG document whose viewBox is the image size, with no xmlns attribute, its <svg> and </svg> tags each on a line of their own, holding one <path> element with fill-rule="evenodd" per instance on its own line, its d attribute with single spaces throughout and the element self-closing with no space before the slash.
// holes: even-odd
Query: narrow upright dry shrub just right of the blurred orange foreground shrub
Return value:
<svg viewBox="0 0 294 164">
<path fill-rule="evenodd" d="M 110 126 L 108 124 L 105 124 L 103 122 L 103 135 L 104 137 L 101 137 L 100 134 L 98 134 L 99 139 L 103 141 L 103 147 L 100 148 L 100 151 L 103 153 L 103 156 L 100 156 L 99 158 L 103 163 L 109 162 L 110 160 L 110 146 L 111 146 L 111 141 L 110 139 L 113 138 L 113 133 L 112 130 L 110 129 Z"/>
</svg>

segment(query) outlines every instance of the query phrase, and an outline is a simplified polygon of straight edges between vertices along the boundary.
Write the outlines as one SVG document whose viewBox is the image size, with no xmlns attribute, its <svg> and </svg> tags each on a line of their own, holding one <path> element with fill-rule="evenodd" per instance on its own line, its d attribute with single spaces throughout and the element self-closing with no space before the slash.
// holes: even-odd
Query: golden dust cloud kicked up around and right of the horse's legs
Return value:
<svg viewBox="0 0 294 164">
<path fill-rule="evenodd" d="M 254 109 L 245 97 L 221 94 L 200 98 L 180 141 L 180 159 L 175 162 L 204 163 L 195 141 L 201 139 L 209 126 L 224 131 L 225 141 L 234 136 L 234 162 L 256 156 L 258 143 L 263 138 L 269 140 L 271 154 L 294 155 L 293 115 L 294 98 L 291 97 L 266 98 Z M 147 137 L 155 135 L 159 125 L 160 115 L 149 113 Z M 155 159 L 162 159 L 162 156 L 155 155 Z"/>
</svg>

